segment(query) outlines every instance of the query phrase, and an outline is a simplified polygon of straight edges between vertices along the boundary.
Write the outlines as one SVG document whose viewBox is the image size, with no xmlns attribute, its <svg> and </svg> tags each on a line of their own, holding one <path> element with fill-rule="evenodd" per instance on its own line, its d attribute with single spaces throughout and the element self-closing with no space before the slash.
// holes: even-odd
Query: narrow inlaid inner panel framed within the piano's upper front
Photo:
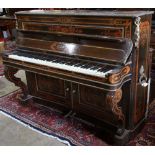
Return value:
<svg viewBox="0 0 155 155">
<path fill-rule="evenodd" d="M 86 25 L 58 25 L 58 24 L 47 24 L 37 22 L 22 22 L 22 29 L 25 31 L 36 31 L 36 32 L 47 32 L 47 33 L 58 33 L 58 34 L 87 34 L 87 35 L 101 35 L 119 38 L 124 38 L 123 27 L 112 27 L 112 26 L 86 26 Z"/>
</svg>

